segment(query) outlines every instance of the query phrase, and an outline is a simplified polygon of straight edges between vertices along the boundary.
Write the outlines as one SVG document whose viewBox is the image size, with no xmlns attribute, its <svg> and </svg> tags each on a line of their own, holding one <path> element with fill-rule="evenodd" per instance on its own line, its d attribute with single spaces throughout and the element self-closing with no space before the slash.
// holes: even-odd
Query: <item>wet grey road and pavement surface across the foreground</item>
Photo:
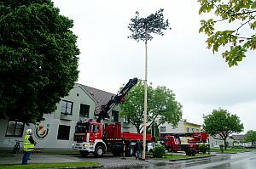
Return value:
<svg viewBox="0 0 256 169">
<path fill-rule="evenodd" d="M 20 164 L 22 155 L 0 158 L 2 164 Z M 79 161 L 95 161 L 102 168 L 136 168 L 136 169 L 256 169 L 256 151 L 232 155 L 217 154 L 216 156 L 188 161 L 136 161 L 134 157 L 122 159 L 113 155 L 94 158 L 92 155 L 83 158 L 80 155 L 32 155 L 29 163 L 65 163 Z M 0 166 L 1 168 L 1 166 Z"/>
</svg>

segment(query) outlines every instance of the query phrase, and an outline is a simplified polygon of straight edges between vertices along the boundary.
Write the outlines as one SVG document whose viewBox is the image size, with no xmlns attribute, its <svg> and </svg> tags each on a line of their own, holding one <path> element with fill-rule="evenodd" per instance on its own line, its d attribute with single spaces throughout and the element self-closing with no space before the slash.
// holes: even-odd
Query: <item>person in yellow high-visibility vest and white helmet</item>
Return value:
<svg viewBox="0 0 256 169">
<path fill-rule="evenodd" d="M 29 157 L 32 154 L 32 151 L 35 149 L 35 144 L 36 144 L 36 142 L 32 138 L 32 129 L 26 130 L 26 136 L 24 137 L 23 143 L 24 143 L 24 147 L 23 147 L 24 154 L 22 157 L 22 164 L 26 165 L 27 160 L 30 160 Z"/>
</svg>

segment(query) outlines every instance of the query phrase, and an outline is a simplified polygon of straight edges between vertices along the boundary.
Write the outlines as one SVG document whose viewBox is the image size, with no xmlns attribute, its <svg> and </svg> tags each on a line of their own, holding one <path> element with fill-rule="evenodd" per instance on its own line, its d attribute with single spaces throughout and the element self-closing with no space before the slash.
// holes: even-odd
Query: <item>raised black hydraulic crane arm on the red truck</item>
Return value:
<svg viewBox="0 0 256 169">
<path fill-rule="evenodd" d="M 121 104 L 124 102 L 125 95 L 137 84 L 137 77 L 130 79 L 129 82 L 125 85 L 125 87 L 116 94 L 113 98 L 108 101 L 108 104 L 102 105 L 100 113 L 96 114 L 98 116 L 97 122 L 101 122 L 104 118 L 109 118 L 108 111 L 117 104 Z"/>
</svg>

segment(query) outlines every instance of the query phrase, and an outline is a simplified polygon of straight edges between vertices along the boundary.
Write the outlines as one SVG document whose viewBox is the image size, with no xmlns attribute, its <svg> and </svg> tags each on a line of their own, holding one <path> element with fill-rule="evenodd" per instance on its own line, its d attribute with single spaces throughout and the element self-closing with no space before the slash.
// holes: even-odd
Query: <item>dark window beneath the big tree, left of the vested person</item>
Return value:
<svg viewBox="0 0 256 169">
<path fill-rule="evenodd" d="M 24 130 L 24 123 L 19 121 L 8 121 L 8 126 L 6 128 L 6 137 L 19 137 L 22 138 Z"/>
</svg>

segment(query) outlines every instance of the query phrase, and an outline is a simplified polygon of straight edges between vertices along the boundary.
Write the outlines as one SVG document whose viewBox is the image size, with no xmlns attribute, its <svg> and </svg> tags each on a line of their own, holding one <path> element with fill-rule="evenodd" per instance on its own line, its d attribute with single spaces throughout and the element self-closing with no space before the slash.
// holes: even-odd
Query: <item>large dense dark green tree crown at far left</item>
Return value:
<svg viewBox="0 0 256 169">
<path fill-rule="evenodd" d="M 68 94 L 78 80 L 73 20 L 50 0 L 0 2 L 0 116 L 26 123 Z"/>
</svg>

